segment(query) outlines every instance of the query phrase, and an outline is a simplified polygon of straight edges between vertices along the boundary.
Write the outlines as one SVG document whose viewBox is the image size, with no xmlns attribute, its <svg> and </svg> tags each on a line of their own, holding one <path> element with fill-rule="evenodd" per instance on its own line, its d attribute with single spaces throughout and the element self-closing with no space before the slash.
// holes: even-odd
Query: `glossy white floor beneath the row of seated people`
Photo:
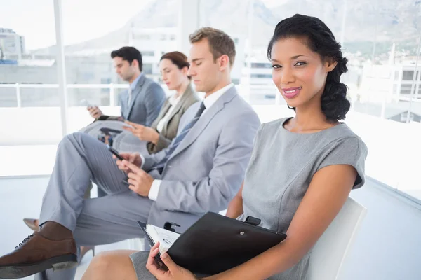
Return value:
<svg viewBox="0 0 421 280">
<path fill-rule="evenodd" d="M 0 255 L 13 251 L 32 233 L 22 218 L 36 217 L 48 178 L 0 179 Z M 345 259 L 340 280 L 419 280 L 421 275 L 421 205 L 408 202 L 372 180 L 351 196 L 368 209 Z M 136 247 L 141 248 L 138 244 Z M 132 241 L 97 246 L 97 253 L 133 248 Z M 81 279 L 92 259 L 88 253 L 76 274 Z M 27 279 L 34 279 L 28 277 Z"/>
</svg>

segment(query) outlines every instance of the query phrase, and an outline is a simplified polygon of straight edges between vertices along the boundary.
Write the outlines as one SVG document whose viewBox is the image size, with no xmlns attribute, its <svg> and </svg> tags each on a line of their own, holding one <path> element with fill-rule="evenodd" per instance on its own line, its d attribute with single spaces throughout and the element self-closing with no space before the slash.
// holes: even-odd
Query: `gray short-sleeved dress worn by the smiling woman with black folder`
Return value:
<svg viewBox="0 0 421 280">
<path fill-rule="evenodd" d="M 286 232 L 314 174 L 329 165 L 352 165 L 358 172 L 354 188 L 364 184 L 366 144 L 341 123 L 320 132 L 286 130 L 288 118 L 262 124 L 255 137 L 243 187 L 243 214 L 260 218 L 260 226 Z M 138 279 L 154 279 L 145 268 L 148 252 L 131 255 Z M 286 272 L 269 279 L 307 278 L 311 252 Z"/>
</svg>

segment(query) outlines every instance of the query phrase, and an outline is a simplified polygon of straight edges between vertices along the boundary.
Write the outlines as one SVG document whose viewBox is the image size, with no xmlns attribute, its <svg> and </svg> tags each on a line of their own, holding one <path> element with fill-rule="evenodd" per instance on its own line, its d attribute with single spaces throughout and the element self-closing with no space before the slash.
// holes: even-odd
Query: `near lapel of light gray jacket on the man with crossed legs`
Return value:
<svg viewBox="0 0 421 280">
<path fill-rule="evenodd" d="M 192 127 L 192 129 L 188 132 L 185 139 L 182 139 L 181 143 L 178 145 L 178 147 L 175 149 L 173 155 L 171 155 L 171 158 L 175 157 L 179 153 L 185 150 L 188 146 L 190 146 L 193 141 L 196 140 L 197 137 L 205 130 L 205 128 L 210 123 L 210 120 L 213 119 L 222 109 L 224 109 L 225 104 L 228 102 L 231 102 L 231 100 L 237 95 L 235 86 L 230 88 L 225 94 L 222 94 L 222 96 L 213 104 L 213 106 L 210 106 L 209 109 L 207 109 L 206 113 L 204 113 L 203 116 L 199 118 L 197 123 Z M 170 158 L 170 159 L 171 159 Z"/>
</svg>

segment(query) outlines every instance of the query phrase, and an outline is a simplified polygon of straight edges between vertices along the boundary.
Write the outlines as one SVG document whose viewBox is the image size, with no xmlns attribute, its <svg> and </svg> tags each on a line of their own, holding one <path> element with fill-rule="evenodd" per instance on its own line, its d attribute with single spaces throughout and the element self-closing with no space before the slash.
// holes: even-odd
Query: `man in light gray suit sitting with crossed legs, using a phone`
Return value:
<svg viewBox="0 0 421 280">
<path fill-rule="evenodd" d="M 183 232 L 207 211 L 227 208 L 243 181 L 260 121 L 231 83 L 232 38 L 203 28 L 190 41 L 189 76 L 206 98 L 182 116 L 171 145 L 155 155 L 122 154 L 125 160 L 116 165 L 93 137 L 65 137 L 44 195 L 41 230 L 0 258 L 0 278 L 72 268 L 76 244 L 139 237 L 135 221 L 159 227 L 170 221 Z M 108 195 L 83 200 L 91 180 Z M 73 279 L 74 272 L 48 269 L 36 279 Z"/>
</svg>

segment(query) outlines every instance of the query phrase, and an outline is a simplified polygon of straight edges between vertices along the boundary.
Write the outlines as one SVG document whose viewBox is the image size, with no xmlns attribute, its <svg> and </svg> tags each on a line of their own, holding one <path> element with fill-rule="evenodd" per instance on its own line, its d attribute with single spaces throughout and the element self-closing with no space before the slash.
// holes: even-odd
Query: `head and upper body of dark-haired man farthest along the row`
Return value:
<svg viewBox="0 0 421 280">
<path fill-rule="evenodd" d="M 130 120 L 140 125 L 151 125 L 165 101 L 162 87 L 142 73 L 142 55 L 136 48 L 113 50 L 111 58 L 116 73 L 130 84 L 119 99 L 121 116 L 105 116 L 98 106 L 88 107 L 89 113 L 95 120 Z"/>
</svg>

